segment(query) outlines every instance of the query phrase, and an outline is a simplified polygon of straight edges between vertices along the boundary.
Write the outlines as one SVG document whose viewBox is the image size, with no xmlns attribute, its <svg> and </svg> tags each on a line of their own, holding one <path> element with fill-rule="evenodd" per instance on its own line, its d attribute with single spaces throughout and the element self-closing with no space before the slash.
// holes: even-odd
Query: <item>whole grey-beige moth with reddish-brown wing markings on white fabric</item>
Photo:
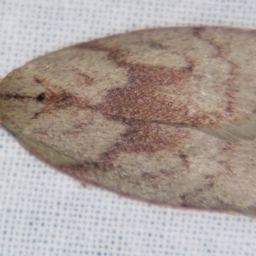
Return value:
<svg viewBox="0 0 256 256">
<path fill-rule="evenodd" d="M 132 198 L 256 216 L 256 32 L 158 28 L 52 52 L 0 84 L 40 159 Z"/>
</svg>

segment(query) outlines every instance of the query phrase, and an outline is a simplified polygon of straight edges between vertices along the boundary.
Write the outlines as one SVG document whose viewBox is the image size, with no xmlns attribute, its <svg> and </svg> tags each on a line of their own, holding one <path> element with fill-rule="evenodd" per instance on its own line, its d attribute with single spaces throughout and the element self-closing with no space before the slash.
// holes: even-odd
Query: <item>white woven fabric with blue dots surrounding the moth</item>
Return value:
<svg viewBox="0 0 256 256">
<path fill-rule="evenodd" d="M 35 56 L 153 26 L 256 28 L 255 0 L 2 0 L 0 77 Z M 256 186 L 256 185 L 255 185 Z M 0 256 L 256 255 L 256 220 L 84 188 L 0 129 Z"/>
</svg>

